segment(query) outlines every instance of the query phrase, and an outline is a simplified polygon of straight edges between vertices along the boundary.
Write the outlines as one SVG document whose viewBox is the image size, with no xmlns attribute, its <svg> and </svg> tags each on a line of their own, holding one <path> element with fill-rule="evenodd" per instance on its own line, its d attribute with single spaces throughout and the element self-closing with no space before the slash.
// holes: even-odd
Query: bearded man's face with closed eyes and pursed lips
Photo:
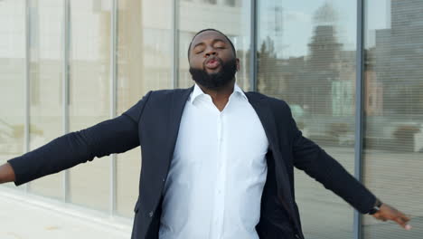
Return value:
<svg viewBox="0 0 423 239">
<path fill-rule="evenodd" d="M 190 49 L 190 72 L 193 80 L 209 89 L 225 86 L 235 77 L 240 60 L 221 33 L 206 31 L 198 34 Z"/>
</svg>

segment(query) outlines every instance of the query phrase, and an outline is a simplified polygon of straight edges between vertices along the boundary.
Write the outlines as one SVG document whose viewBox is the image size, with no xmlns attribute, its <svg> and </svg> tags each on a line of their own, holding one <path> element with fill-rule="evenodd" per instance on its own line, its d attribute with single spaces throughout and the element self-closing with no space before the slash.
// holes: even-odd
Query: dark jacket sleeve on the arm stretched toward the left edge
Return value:
<svg viewBox="0 0 423 239">
<path fill-rule="evenodd" d="M 7 162 L 14 168 L 16 186 L 60 172 L 80 163 L 139 146 L 138 121 L 151 91 L 115 119 L 71 132 Z"/>
</svg>

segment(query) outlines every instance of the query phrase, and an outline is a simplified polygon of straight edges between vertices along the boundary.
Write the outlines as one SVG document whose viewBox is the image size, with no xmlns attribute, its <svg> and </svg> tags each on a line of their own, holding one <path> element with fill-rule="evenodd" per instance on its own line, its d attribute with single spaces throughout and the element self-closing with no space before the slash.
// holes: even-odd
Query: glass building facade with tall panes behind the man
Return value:
<svg viewBox="0 0 423 239">
<path fill-rule="evenodd" d="M 215 28 L 237 49 L 244 91 L 286 100 L 307 138 L 414 226 L 358 215 L 296 171 L 305 237 L 420 238 L 422 12 L 419 0 L 2 0 L 0 163 L 116 117 L 147 91 L 192 86 L 188 45 Z M 139 150 L 16 190 L 130 218 Z"/>
</svg>

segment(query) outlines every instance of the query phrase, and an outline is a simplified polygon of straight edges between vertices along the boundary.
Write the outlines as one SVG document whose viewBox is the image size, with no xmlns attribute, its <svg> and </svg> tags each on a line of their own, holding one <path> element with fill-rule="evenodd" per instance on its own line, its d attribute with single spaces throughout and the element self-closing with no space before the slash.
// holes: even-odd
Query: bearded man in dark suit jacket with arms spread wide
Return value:
<svg viewBox="0 0 423 239">
<path fill-rule="evenodd" d="M 363 214 L 410 229 L 296 128 L 283 100 L 243 92 L 235 48 L 206 29 L 190 44 L 195 85 L 150 91 L 116 119 L 72 132 L 0 167 L 18 186 L 141 146 L 132 238 L 304 238 L 295 202 L 298 167 Z"/>
</svg>

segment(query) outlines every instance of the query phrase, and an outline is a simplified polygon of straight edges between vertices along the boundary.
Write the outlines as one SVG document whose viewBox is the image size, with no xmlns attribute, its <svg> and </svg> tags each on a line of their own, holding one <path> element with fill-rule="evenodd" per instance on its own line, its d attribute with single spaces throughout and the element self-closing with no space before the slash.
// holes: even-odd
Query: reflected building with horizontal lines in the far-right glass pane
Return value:
<svg viewBox="0 0 423 239">
<path fill-rule="evenodd" d="M 423 2 L 390 2 L 390 29 L 376 30 L 371 62 L 383 84 L 383 115 L 423 119 Z"/>
</svg>

